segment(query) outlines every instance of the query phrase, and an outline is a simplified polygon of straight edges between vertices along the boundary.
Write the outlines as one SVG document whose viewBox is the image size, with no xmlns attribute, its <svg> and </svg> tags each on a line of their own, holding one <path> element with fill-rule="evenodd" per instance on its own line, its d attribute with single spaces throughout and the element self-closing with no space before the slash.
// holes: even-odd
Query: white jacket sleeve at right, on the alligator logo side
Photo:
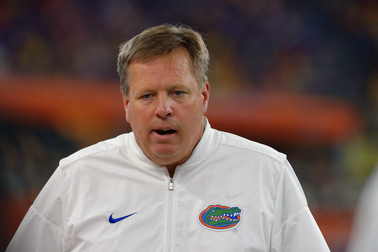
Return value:
<svg viewBox="0 0 378 252">
<path fill-rule="evenodd" d="M 329 252 L 301 185 L 285 160 L 277 187 L 271 252 Z"/>
</svg>

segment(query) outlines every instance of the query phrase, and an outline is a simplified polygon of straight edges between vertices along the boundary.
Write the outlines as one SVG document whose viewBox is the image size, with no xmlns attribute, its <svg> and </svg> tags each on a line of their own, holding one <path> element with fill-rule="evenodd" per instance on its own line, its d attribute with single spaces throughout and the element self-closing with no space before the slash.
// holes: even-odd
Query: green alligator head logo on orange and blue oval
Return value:
<svg viewBox="0 0 378 252">
<path fill-rule="evenodd" d="M 209 205 L 200 213 L 198 221 L 207 229 L 224 231 L 240 223 L 241 213 L 239 207 Z"/>
</svg>

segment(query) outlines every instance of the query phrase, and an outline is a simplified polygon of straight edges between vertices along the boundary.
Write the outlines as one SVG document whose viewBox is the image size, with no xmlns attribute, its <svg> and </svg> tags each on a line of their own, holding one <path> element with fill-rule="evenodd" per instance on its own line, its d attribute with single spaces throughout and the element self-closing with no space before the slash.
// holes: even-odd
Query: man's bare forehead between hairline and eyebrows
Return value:
<svg viewBox="0 0 378 252">
<path fill-rule="evenodd" d="M 132 61 L 129 65 L 130 90 L 139 84 L 169 83 L 172 81 L 195 82 L 192 61 L 184 49 L 163 54 L 149 61 Z"/>
</svg>

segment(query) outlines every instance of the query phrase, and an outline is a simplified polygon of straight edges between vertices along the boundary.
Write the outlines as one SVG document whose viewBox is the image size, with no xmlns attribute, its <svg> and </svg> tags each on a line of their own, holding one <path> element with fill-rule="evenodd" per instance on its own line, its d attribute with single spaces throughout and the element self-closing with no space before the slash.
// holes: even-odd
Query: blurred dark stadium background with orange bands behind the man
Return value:
<svg viewBox="0 0 378 252">
<path fill-rule="evenodd" d="M 287 154 L 331 251 L 378 161 L 378 2 L 0 2 L 0 250 L 59 160 L 129 132 L 118 46 L 183 23 L 211 54 L 213 128 Z"/>
</svg>

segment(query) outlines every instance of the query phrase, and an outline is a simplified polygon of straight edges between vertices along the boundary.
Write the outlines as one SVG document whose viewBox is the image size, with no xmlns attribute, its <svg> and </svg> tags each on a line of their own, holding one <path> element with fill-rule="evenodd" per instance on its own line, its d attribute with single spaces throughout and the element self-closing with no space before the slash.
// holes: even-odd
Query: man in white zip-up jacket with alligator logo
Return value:
<svg viewBox="0 0 378 252">
<path fill-rule="evenodd" d="M 285 155 L 203 117 L 208 62 L 183 26 L 121 45 L 133 132 L 62 159 L 8 251 L 329 251 Z"/>
</svg>

